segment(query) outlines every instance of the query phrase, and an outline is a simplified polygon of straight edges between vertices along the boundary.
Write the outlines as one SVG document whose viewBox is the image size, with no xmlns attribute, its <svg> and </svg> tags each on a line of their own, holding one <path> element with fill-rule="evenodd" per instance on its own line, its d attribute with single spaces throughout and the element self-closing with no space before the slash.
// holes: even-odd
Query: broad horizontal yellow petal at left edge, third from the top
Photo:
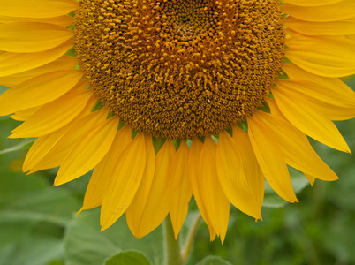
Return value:
<svg viewBox="0 0 355 265">
<path fill-rule="evenodd" d="M 74 32 L 40 22 L 0 24 L 0 49 L 11 52 L 38 52 L 53 49 L 72 37 Z"/>
</svg>

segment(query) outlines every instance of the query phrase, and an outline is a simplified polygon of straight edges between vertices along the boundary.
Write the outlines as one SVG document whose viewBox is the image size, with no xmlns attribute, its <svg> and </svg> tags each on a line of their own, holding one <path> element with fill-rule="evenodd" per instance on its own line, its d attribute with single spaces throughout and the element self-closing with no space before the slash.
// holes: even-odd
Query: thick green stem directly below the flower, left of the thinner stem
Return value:
<svg viewBox="0 0 355 265">
<path fill-rule="evenodd" d="M 180 256 L 180 245 L 175 239 L 174 230 L 170 216 L 165 218 L 163 224 L 163 237 L 164 237 L 164 264 L 165 265 L 182 265 Z"/>
</svg>

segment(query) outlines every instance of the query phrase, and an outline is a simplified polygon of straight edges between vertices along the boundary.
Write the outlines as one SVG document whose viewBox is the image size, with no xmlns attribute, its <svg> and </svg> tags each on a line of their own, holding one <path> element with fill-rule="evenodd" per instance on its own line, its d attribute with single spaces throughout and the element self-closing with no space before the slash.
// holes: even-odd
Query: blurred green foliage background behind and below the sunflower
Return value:
<svg viewBox="0 0 355 265">
<path fill-rule="evenodd" d="M 346 82 L 355 87 L 355 78 Z M 145 253 L 152 264 L 162 264 L 161 228 L 134 239 L 125 216 L 100 232 L 98 209 L 75 215 L 89 176 L 53 187 L 57 170 L 29 176 L 21 172 L 30 144 L 2 154 L 1 150 L 23 143 L 6 139 L 17 125 L 10 117 L 0 117 L 0 265 L 101 265 L 128 249 Z M 355 119 L 336 125 L 355 152 Z M 255 223 L 232 208 L 223 245 L 220 239 L 209 242 L 208 228 L 202 222 L 187 264 L 197 264 L 208 255 L 230 264 L 355 264 L 355 157 L 311 141 L 340 180 L 316 180 L 313 187 L 305 187 L 305 178 L 299 182 L 296 176 L 292 182 L 299 190 L 303 188 L 299 203 L 277 208 L 279 201 L 268 193 L 268 205 L 274 207 L 263 208 L 262 222 Z M 192 201 L 180 240 L 195 214 Z"/>
</svg>

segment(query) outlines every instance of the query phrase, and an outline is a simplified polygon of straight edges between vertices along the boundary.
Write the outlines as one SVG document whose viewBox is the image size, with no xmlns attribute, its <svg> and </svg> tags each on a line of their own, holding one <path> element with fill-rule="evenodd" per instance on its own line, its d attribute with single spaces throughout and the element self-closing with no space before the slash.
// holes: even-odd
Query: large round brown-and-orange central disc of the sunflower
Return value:
<svg viewBox="0 0 355 265">
<path fill-rule="evenodd" d="M 80 0 L 79 66 L 133 130 L 171 140 L 222 131 L 269 94 L 283 62 L 276 0 Z"/>
</svg>

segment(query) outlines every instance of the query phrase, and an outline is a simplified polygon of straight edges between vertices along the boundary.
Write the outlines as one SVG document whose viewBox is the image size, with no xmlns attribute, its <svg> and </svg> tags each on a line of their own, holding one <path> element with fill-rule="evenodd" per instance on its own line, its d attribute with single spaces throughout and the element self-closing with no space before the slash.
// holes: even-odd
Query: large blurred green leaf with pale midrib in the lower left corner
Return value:
<svg viewBox="0 0 355 265">
<path fill-rule="evenodd" d="M 0 264 L 47 265 L 64 257 L 63 229 L 79 203 L 41 175 L 0 167 Z"/>
</svg>

